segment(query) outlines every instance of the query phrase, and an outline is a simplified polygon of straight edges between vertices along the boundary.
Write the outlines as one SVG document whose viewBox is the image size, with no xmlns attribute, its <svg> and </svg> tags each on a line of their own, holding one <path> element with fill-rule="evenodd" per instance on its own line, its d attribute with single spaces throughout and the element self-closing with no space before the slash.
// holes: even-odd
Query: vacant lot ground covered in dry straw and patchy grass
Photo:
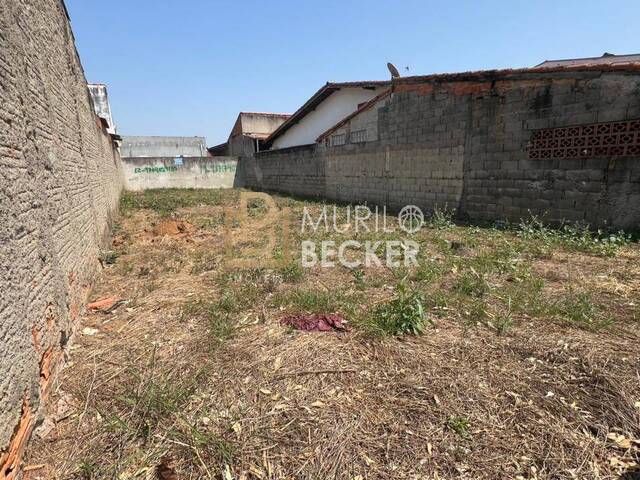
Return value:
<svg viewBox="0 0 640 480">
<path fill-rule="evenodd" d="M 402 236 L 275 199 L 296 258 L 229 271 L 268 243 L 238 191 L 125 196 L 27 478 L 640 478 L 638 244 L 439 211 L 418 267 L 301 268 L 302 239 Z M 315 313 L 347 330 L 281 322 Z"/>
</svg>

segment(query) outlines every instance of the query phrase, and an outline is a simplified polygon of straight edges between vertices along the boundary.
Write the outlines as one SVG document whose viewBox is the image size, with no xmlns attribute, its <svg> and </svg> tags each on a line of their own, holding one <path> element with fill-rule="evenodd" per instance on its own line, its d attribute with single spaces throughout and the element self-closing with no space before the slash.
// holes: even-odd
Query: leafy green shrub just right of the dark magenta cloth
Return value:
<svg viewBox="0 0 640 480">
<path fill-rule="evenodd" d="M 369 330 L 383 335 L 421 335 L 427 323 L 432 323 L 425 313 L 422 293 L 408 290 L 404 283 L 396 290 L 393 300 L 373 311 L 368 321 Z"/>
</svg>

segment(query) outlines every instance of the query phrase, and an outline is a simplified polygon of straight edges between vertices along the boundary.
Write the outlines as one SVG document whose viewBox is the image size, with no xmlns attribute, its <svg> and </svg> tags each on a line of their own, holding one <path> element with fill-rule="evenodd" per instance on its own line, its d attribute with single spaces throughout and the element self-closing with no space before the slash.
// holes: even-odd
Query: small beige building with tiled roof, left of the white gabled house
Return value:
<svg viewBox="0 0 640 480">
<path fill-rule="evenodd" d="M 227 141 L 232 156 L 253 155 L 263 149 L 264 140 L 291 115 L 284 113 L 240 112 Z M 221 151 L 221 145 L 218 148 Z"/>
</svg>

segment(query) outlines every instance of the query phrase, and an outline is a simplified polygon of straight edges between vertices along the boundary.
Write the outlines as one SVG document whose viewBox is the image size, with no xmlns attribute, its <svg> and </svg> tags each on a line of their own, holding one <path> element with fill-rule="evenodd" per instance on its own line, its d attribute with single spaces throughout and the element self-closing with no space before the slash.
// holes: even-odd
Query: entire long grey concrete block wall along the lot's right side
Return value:
<svg viewBox="0 0 640 480">
<path fill-rule="evenodd" d="M 638 144 L 640 72 L 467 76 L 403 79 L 383 106 L 336 130 L 346 134 L 345 145 L 262 152 L 243 158 L 240 171 L 257 189 L 426 210 L 446 205 L 474 220 L 536 214 L 550 222 L 640 225 L 638 147 L 616 147 L 620 156 L 578 143 Z M 577 128 L 544 131 L 559 127 Z M 369 141 L 351 143 L 349 132 L 363 128 Z M 612 130 L 585 136 L 593 129 Z M 567 134 L 544 147 L 560 158 L 532 158 L 535 132 Z"/>
</svg>

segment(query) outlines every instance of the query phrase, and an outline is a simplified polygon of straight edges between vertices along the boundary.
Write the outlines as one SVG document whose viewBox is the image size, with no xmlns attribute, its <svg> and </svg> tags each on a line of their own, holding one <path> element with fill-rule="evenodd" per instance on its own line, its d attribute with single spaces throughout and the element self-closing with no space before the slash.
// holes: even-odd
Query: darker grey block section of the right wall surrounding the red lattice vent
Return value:
<svg viewBox="0 0 640 480">
<path fill-rule="evenodd" d="M 531 132 L 540 128 L 640 118 L 640 75 L 584 72 L 496 82 L 473 102 L 465 153 L 465 195 L 471 218 L 634 228 L 640 224 L 639 157 L 530 159 Z"/>
</svg>

